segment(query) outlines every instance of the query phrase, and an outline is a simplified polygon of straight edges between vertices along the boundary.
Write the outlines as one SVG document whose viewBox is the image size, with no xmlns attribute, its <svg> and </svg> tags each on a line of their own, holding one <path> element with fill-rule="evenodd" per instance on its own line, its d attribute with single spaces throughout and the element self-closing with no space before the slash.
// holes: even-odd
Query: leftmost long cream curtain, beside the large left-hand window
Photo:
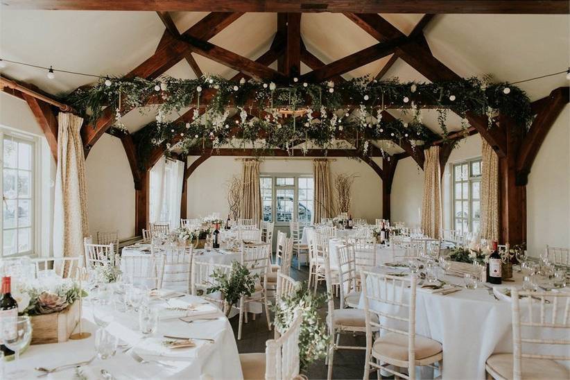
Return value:
<svg viewBox="0 0 570 380">
<path fill-rule="evenodd" d="M 83 119 L 58 115 L 58 168 L 53 204 L 53 256 L 83 257 L 83 238 L 89 234 L 85 155 L 80 129 Z"/>
</svg>

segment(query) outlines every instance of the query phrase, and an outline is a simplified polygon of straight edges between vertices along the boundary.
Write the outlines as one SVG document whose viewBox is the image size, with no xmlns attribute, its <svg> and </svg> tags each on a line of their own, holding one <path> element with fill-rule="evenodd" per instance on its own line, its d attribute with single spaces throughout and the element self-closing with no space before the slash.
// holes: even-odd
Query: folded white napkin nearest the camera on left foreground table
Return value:
<svg viewBox="0 0 570 380">
<path fill-rule="evenodd" d="M 214 344 L 206 340 L 146 338 L 133 349 L 146 360 L 187 361 L 200 356 L 208 346 Z"/>
</svg>

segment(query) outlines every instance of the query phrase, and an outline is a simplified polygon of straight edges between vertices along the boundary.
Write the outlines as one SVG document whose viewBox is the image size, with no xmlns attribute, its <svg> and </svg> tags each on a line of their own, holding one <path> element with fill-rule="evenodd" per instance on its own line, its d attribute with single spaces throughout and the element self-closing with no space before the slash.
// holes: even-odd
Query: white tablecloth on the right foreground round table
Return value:
<svg viewBox="0 0 570 380">
<path fill-rule="evenodd" d="M 394 272 L 397 269 L 377 270 Z M 515 279 L 516 282 L 505 282 L 506 286 L 520 286 L 518 273 Z M 444 280 L 463 285 L 463 279 L 458 277 L 445 276 Z M 361 309 L 364 308 L 363 297 L 361 295 Z M 377 302 L 371 304 L 374 310 L 384 307 Z M 444 379 L 485 379 L 487 358 L 493 353 L 512 352 L 511 318 L 510 302 L 495 300 L 482 284 L 475 290 L 463 289 L 449 295 L 417 291 L 415 331 L 442 343 Z"/>
</svg>

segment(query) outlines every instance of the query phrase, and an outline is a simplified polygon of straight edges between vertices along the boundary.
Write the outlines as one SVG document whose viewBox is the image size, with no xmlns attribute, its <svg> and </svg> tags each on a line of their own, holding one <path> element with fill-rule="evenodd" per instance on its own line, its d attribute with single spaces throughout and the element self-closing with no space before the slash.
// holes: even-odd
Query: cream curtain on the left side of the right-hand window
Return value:
<svg viewBox="0 0 570 380">
<path fill-rule="evenodd" d="M 422 230 L 434 239 L 441 238 L 441 169 L 440 147 L 424 150 L 424 198 L 422 200 Z"/>
</svg>

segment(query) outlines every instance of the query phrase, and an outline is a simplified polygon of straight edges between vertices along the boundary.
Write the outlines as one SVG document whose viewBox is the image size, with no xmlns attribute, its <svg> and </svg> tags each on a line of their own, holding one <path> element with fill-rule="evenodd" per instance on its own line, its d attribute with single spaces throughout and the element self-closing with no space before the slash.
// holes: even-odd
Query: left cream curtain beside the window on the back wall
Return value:
<svg viewBox="0 0 570 380">
<path fill-rule="evenodd" d="M 261 220 L 261 190 L 259 189 L 259 160 L 244 159 L 242 169 L 242 198 L 240 218 Z"/>
</svg>

